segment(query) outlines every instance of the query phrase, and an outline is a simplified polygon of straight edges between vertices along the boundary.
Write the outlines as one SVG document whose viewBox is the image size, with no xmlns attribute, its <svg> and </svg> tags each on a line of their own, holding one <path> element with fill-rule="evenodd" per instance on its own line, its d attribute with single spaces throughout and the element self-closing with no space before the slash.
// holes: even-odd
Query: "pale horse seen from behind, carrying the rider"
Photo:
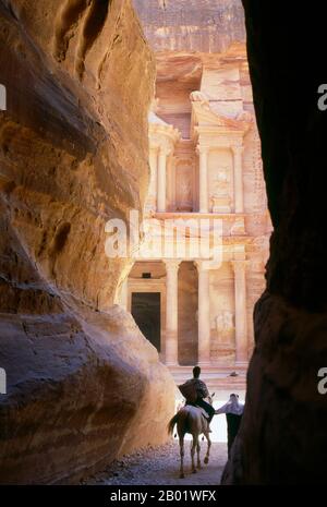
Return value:
<svg viewBox="0 0 327 507">
<path fill-rule="evenodd" d="M 209 398 L 210 402 L 211 398 Z M 180 469 L 180 479 L 184 479 L 184 436 L 186 433 L 190 433 L 193 437 L 191 445 L 191 458 L 192 458 L 192 473 L 196 473 L 196 468 L 194 463 L 195 449 L 197 452 L 197 469 L 201 469 L 201 459 L 199 459 L 199 442 L 198 437 L 201 434 L 207 439 L 207 454 L 205 456 L 204 462 L 207 464 L 210 457 L 210 426 L 207 419 L 203 415 L 203 411 L 199 407 L 193 407 L 191 405 L 185 405 L 181 408 L 177 414 L 168 423 L 168 434 L 172 435 L 173 427 L 177 424 L 179 442 L 180 442 L 180 456 L 181 456 L 181 469 Z"/>
</svg>

